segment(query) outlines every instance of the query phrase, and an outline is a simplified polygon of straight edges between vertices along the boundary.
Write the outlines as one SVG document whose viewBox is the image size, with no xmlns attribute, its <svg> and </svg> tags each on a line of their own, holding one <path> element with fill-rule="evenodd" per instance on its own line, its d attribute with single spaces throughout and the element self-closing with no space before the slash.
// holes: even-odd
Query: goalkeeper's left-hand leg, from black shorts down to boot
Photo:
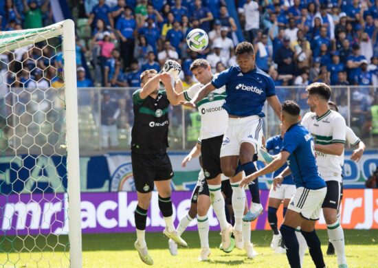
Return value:
<svg viewBox="0 0 378 268">
<path fill-rule="evenodd" d="M 153 191 L 153 177 L 155 172 L 151 170 L 151 157 L 148 155 L 137 155 L 131 153 L 131 162 L 133 165 L 133 175 L 135 188 L 137 190 L 137 207 L 134 212 L 137 241 L 134 243 L 135 249 L 140 259 L 147 265 L 153 265 L 153 259 L 148 254 L 146 245 L 146 222 L 147 211 L 151 202 Z"/>
</svg>

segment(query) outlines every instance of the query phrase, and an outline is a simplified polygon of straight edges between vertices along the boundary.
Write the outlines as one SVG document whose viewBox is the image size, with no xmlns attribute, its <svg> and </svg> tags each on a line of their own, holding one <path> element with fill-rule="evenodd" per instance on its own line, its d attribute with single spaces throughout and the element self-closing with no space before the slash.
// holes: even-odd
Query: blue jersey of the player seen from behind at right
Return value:
<svg viewBox="0 0 378 268">
<path fill-rule="evenodd" d="M 284 150 L 290 154 L 287 164 L 293 174 L 296 188 L 317 190 L 326 187 L 316 165 L 313 137 L 304 126 L 297 123 L 289 127 L 282 142 L 281 151 Z"/>
</svg>

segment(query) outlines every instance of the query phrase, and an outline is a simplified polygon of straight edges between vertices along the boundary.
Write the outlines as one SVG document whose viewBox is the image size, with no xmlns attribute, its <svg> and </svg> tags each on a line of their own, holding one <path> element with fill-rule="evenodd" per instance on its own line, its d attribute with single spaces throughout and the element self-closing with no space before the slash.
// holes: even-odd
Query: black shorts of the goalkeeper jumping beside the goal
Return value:
<svg viewBox="0 0 378 268">
<path fill-rule="evenodd" d="M 151 192 L 154 181 L 173 178 L 172 164 L 167 153 L 142 155 L 131 152 L 131 164 L 135 188 L 138 192 Z"/>
</svg>

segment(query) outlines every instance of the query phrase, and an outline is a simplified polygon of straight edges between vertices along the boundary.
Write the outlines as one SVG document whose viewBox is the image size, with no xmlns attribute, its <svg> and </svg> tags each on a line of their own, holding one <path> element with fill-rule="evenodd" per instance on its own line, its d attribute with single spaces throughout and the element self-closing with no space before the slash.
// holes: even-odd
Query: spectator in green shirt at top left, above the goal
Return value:
<svg viewBox="0 0 378 268">
<path fill-rule="evenodd" d="M 27 3 L 27 0 L 23 0 L 23 13 L 25 16 L 23 27 L 25 29 L 43 27 L 43 13 L 47 11 L 49 2 L 49 0 L 45 0 L 41 8 L 39 8 L 36 0 L 31 0 L 29 3 Z"/>
</svg>

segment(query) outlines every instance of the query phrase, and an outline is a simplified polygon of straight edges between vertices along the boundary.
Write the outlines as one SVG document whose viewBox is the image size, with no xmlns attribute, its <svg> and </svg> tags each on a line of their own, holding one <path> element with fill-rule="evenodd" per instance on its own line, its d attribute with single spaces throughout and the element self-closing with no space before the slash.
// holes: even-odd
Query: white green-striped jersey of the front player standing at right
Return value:
<svg viewBox="0 0 378 268">
<path fill-rule="evenodd" d="M 345 144 L 346 124 L 345 120 L 336 111 L 329 110 L 318 117 L 315 113 L 306 113 L 302 119 L 302 125 L 306 127 L 315 139 L 315 144 Z M 318 170 L 325 181 L 342 181 L 342 155 L 329 155 L 315 151 Z"/>
</svg>

